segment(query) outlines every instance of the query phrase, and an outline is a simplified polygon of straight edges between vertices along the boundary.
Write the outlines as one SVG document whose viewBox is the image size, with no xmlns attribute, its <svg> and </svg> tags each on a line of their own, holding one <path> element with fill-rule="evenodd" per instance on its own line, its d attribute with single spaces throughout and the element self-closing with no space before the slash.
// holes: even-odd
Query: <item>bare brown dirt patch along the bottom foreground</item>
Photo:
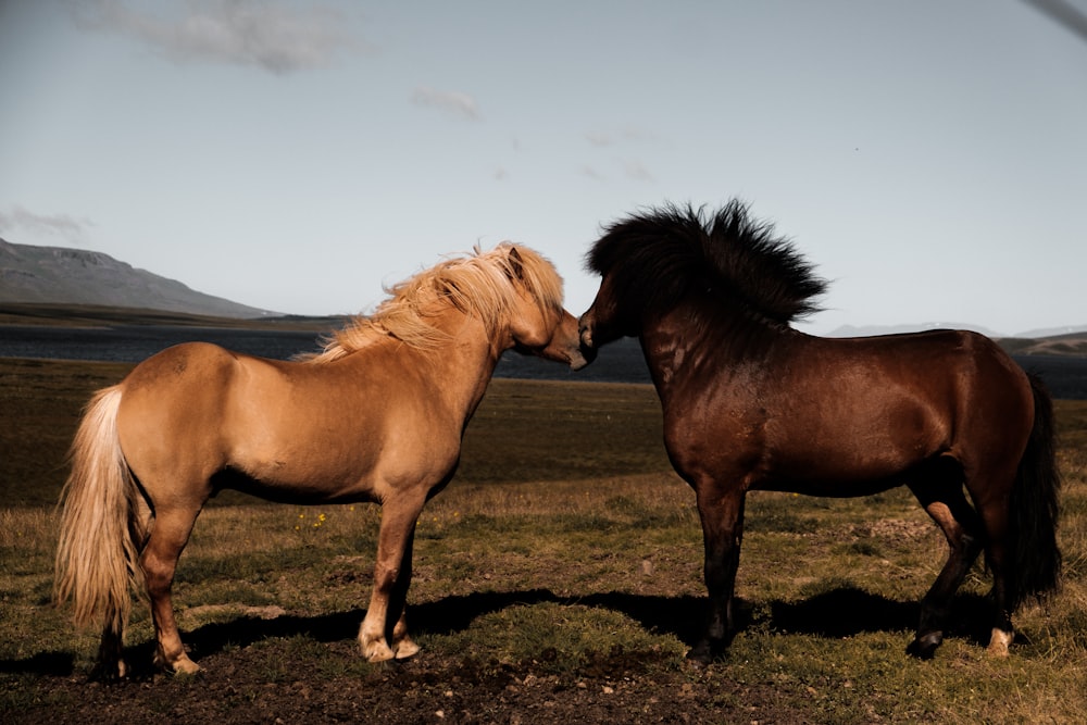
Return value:
<svg viewBox="0 0 1087 725">
<path fill-rule="evenodd" d="M 358 657 L 353 641 L 328 658 Z M 266 652 L 252 647 L 200 660 L 195 677 L 137 670 L 118 684 L 88 682 L 71 662 L 37 663 L 51 704 L 2 713 L 5 723 L 803 723 L 804 712 L 771 686 L 729 683 L 711 671 L 649 675 L 647 653 L 613 652 L 578 672 L 549 674 L 546 662 L 475 662 L 426 653 L 329 677 L 300 668 L 267 679 Z M 545 661 L 547 652 L 540 655 Z M 48 671 L 53 670 L 53 674 Z M 40 680 L 39 680 L 40 684 Z"/>
</svg>

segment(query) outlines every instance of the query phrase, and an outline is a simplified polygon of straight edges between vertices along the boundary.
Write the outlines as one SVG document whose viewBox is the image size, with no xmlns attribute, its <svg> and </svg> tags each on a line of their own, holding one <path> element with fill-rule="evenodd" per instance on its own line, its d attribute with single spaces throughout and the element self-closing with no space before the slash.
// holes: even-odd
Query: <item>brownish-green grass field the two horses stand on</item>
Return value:
<svg viewBox="0 0 1087 725">
<path fill-rule="evenodd" d="M 64 450 L 123 365 L 0 361 L 0 721 L 1079 722 L 1087 712 L 1087 403 L 1060 401 L 1065 586 L 1016 616 L 995 660 L 985 572 L 967 578 L 935 660 L 904 654 L 945 557 L 905 491 L 749 497 L 741 629 L 704 671 L 701 532 L 644 386 L 495 380 L 457 480 L 420 522 L 410 595 L 423 652 L 370 665 L 354 635 L 379 510 L 224 496 L 175 584 L 204 667 L 86 683 L 97 647 L 50 604 Z M 90 722 L 89 720 L 87 722 Z"/>
</svg>

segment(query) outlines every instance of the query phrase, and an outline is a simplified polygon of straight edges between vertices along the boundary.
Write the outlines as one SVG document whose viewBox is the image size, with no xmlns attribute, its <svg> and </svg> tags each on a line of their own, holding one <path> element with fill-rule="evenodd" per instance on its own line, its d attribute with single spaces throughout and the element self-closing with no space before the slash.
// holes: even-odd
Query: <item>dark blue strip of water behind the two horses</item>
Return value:
<svg viewBox="0 0 1087 725">
<path fill-rule="evenodd" d="M 224 348 L 288 360 L 321 349 L 321 335 L 275 329 L 116 325 L 112 327 L 47 327 L 0 325 L 0 358 L 45 358 L 136 363 L 177 345 L 203 340 Z M 1017 355 L 1025 370 L 1038 373 L 1054 398 L 1087 400 L 1087 358 Z M 507 352 L 497 377 L 600 383 L 649 383 L 649 372 L 637 340 L 623 339 L 601 350 L 597 361 L 579 372 L 559 363 Z"/>
</svg>

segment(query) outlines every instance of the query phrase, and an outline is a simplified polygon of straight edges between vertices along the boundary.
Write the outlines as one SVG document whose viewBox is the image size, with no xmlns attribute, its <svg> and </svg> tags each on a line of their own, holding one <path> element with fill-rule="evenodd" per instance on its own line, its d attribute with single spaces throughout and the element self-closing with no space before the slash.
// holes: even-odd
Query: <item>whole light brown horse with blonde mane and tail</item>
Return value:
<svg viewBox="0 0 1087 725">
<path fill-rule="evenodd" d="M 186 343 L 99 391 L 72 447 L 57 598 L 74 602 L 77 624 L 101 624 L 101 676 L 125 674 L 134 587 L 150 597 L 155 663 L 199 668 L 182 645 L 171 584 L 197 515 L 223 488 L 382 504 L 359 642 L 371 661 L 414 654 L 404 601 L 415 522 L 453 476 L 464 428 L 511 348 L 574 370 L 588 362 L 554 267 L 507 243 L 401 283 L 309 359 Z"/>
</svg>

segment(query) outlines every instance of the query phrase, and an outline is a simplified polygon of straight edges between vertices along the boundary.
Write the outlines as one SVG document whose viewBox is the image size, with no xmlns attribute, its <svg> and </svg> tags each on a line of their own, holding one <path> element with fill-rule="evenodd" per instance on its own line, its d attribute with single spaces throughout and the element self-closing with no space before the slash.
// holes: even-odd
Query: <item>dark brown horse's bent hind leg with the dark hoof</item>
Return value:
<svg viewBox="0 0 1087 725">
<path fill-rule="evenodd" d="M 923 660 L 932 658 L 944 641 L 951 598 L 982 551 L 982 524 L 966 502 L 958 477 L 911 484 L 910 490 L 933 517 L 948 540 L 948 560 L 932 588 L 921 600 L 921 622 L 916 637 L 907 648 Z"/>
</svg>

